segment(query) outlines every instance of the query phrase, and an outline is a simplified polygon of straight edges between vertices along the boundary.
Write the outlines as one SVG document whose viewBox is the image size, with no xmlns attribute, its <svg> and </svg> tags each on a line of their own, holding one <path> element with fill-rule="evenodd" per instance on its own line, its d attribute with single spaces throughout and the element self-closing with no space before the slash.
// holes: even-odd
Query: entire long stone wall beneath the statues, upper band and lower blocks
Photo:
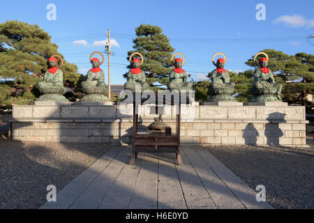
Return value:
<svg viewBox="0 0 314 223">
<path fill-rule="evenodd" d="M 147 130 L 156 115 L 142 109 L 139 128 Z M 304 107 L 196 106 L 181 118 L 181 144 L 305 146 Z M 183 109 L 183 110 L 184 110 Z M 12 138 L 20 141 L 78 143 L 132 143 L 132 107 L 119 106 L 15 106 Z M 183 111 L 184 112 L 184 111 Z M 194 113 L 194 114 L 193 114 Z M 175 111 L 165 123 L 175 132 Z"/>
</svg>

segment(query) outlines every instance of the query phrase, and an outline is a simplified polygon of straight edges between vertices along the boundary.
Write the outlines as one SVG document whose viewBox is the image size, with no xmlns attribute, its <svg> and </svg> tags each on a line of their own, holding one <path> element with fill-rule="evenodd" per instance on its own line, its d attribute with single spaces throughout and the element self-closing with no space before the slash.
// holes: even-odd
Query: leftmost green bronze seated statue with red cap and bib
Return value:
<svg viewBox="0 0 314 223">
<path fill-rule="evenodd" d="M 58 67 L 59 57 L 61 65 Z M 68 101 L 63 96 L 66 93 L 66 88 L 63 86 L 63 72 L 60 69 L 63 65 L 61 56 L 54 55 L 48 59 L 49 70 L 45 72 L 43 82 L 38 83 L 40 93 L 43 93 L 38 100 L 40 101 Z"/>
</svg>

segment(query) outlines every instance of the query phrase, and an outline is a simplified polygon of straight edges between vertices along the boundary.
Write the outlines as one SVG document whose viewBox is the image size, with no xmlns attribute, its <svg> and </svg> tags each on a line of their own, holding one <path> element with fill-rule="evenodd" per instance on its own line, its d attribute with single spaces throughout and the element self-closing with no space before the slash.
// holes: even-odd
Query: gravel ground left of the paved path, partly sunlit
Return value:
<svg viewBox="0 0 314 223">
<path fill-rule="evenodd" d="M 47 185 L 61 190 L 108 148 L 0 139 L 0 209 L 39 208 L 46 202 Z"/>
</svg>

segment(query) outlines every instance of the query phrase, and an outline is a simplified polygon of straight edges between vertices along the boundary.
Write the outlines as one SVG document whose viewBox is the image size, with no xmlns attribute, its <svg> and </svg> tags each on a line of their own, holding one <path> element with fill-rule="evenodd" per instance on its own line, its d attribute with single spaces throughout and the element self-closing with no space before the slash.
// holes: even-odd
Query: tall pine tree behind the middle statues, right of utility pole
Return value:
<svg viewBox="0 0 314 223">
<path fill-rule="evenodd" d="M 170 61 L 174 48 L 171 47 L 169 39 L 159 26 L 141 24 L 135 29 L 137 38 L 132 51 L 128 52 L 127 59 L 133 52 L 140 52 L 144 56 L 141 69 L 146 73 L 149 88 L 157 91 L 161 86 L 169 82 L 169 73 L 172 70 Z M 139 56 L 135 56 L 140 59 Z M 131 67 L 128 66 L 130 69 Z M 126 75 L 124 75 L 126 77 Z M 155 84 L 158 82 L 159 84 Z"/>
</svg>

